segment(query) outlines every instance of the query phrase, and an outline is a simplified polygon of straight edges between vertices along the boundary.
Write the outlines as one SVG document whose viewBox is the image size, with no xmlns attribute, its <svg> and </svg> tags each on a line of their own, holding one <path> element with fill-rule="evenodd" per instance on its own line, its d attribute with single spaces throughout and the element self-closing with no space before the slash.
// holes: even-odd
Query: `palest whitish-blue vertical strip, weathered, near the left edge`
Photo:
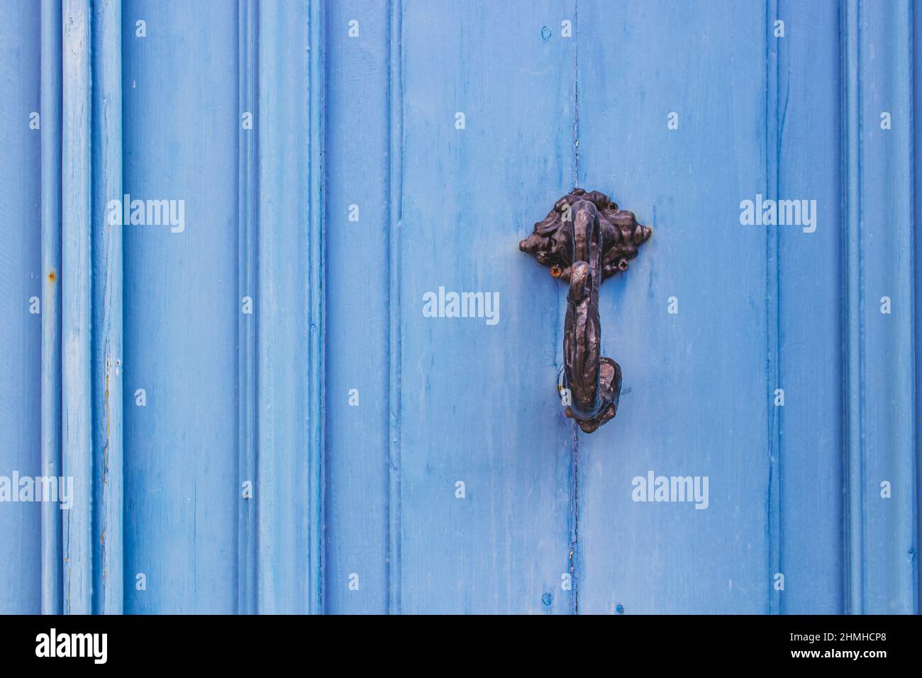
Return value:
<svg viewBox="0 0 922 678">
<path fill-rule="evenodd" d="M 90 11 L 65 0 L 62 134 L 62 470 L 73 480 L 63 512 L 64 612 L 92 612 L 90 374 Z"/>
</svg>

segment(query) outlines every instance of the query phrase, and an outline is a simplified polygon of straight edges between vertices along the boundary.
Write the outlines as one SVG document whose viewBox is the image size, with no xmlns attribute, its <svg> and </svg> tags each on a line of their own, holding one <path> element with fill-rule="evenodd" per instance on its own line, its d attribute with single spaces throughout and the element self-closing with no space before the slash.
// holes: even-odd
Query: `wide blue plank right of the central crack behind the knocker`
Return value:
<svg viewBox="0 0 922 678">
<path fill-rule="evenodd" d="M 739 221 L 766 193 L 765 20 L 756 2 L 579 3 L 579 182 L 654 229 L 600 295 L 623 390 L 579 434 L 581 613 L 770 610 L 770 241 Z M 634 501 L 651 472 L 706 477 L 707 508 Z"/>
</svg>

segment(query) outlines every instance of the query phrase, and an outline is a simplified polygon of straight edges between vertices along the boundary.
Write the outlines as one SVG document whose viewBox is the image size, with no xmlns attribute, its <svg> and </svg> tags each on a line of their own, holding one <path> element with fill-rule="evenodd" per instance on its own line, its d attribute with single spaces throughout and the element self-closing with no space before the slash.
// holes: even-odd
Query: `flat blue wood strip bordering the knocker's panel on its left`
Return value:
<svg viewBox="0 0 922 678">
<path fill-rule="evenodd" d="M 327 613 L 388 612 L 398 567 L 388 560 L 388 477 L 398 472 L 388 463 L 394 11 L 336 2 L 325 22 Z"/>
</svg>

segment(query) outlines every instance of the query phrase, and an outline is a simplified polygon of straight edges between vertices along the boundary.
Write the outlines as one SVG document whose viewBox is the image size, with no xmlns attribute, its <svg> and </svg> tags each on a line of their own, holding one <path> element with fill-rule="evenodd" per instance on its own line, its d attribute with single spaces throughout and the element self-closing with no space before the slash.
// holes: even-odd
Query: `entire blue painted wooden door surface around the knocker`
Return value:
<svg viewBox="0 0 922 678">
<path fill-rule="evenodd" d="M 76 496 L 0 504 L 0 612 L 917 612 L 920 26 L 3 4 L 0 476 Z M 602 286 L 624 383 L 591 435 L 564 287 L 516 247 L 574 186 L 654 228 Z M 110 224 L 124 194 L 183 228 Z M 757 196 L 815 231 L 741 223 Z"/>
</svg>

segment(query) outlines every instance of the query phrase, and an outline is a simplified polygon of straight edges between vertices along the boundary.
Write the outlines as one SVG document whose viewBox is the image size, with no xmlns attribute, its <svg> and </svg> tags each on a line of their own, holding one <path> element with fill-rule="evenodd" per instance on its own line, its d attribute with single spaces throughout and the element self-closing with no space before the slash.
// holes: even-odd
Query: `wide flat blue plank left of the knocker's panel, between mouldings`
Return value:
<svg viewBox="0 0 922 678">
<path fill-rule="evenodd" d="M 184 206 L 123 231 L 126 613 L 237 610 L 236 8 L 123 5 L 124 193 Z"/>
</svg>

